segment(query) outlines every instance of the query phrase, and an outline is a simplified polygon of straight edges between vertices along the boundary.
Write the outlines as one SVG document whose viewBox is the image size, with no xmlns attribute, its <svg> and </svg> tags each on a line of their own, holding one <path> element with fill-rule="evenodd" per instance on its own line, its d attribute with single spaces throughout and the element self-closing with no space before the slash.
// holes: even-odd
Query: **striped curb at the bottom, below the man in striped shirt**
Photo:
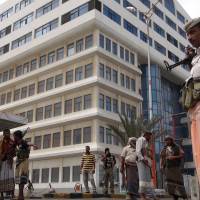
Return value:
<svg viewBox="0 0 200 200">
<path fill-rule="evenodd" d="M 91 194 L 91 193 L 48 193 L 43 195 L 47 199 L 92 199 L 92 198 L 112 198 L 125 199 L 124 194 Z M 170 198 L 169 195 L 157 195 L 159 198 Z"/>
</svg>

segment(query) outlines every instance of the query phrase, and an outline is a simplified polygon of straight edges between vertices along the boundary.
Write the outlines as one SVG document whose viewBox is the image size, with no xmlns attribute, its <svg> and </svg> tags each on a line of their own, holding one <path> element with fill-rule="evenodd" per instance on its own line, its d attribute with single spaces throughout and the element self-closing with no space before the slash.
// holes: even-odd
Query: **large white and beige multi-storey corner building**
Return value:
<svg viewBox="0 0 200 200">
<path fill-rule="evenodd" d="M 139 65 L 147 63 L 148 40 L 142 12 L 152 3 L 7 0 L 1 5 L 0 111 L 28 118 L 27 140 L 38 146 L 31 151 L 29 166 L 35 188 L 47 188 L 49 182 L 55 188 L 73 188 L 80 181 L 86 145 L 96 155 L 99 186 L 104 148 L 120 154 L 109 124 L 119 124 L 118 111 L 129 117 L 142 113 Z M 151 62 L 175 84 L 188 71 L 179 67 L 169 76 L 163 60 L 184 57 L 187 19 L 177 1 L 162 0 L 151 20 Z"/>
</svg>

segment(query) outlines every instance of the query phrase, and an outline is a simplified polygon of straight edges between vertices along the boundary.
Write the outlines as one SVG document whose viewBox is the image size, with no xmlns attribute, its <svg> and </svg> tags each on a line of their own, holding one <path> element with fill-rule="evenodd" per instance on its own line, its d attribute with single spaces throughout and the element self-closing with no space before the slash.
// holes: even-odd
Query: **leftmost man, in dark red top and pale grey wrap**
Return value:
<svg viewBox="0 0 200 200">
<path fill-rule="evenodd" d="M 10 193 L 14 196 L 15 182 L 13 157 L 15 156 L 14 141 L 10 138 L 10 130 L 3 130 L 3 139 L 0 141 L 0 193 Z"/>
</svg>

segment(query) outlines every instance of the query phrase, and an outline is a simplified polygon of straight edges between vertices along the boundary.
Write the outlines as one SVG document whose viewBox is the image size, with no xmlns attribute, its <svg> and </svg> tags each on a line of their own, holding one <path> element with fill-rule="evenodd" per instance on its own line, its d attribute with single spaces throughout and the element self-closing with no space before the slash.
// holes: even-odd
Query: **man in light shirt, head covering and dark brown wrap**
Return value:
<svg viewBox="0 0 200 200">
<path fill-rule="evenodd" d="M 136 154 L 137 138 L 129 138 L 128 145 L 124 147 L 121 154 L 120 172 L 126 177 L 127 196 L 126 199 L 136 200 L 138 195 L 138 170 L 137 170 L 137 154 Z"/>
</svg>

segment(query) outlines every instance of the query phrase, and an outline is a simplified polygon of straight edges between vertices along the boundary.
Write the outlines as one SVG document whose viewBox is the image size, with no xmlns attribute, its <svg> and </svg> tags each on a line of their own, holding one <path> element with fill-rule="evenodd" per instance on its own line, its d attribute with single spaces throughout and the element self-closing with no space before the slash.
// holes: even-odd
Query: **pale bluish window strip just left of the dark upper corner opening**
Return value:
<svg viewBox="0 0 200 200">
<path fill-rule="evenodd" d="M 37 28 L 35 30 L 35 38 L 46 35 L 48 32 L 54 30 L 58 27 L 58 18 L 53 21 L 48 22 L 47 24 Z"/>
</svg>

